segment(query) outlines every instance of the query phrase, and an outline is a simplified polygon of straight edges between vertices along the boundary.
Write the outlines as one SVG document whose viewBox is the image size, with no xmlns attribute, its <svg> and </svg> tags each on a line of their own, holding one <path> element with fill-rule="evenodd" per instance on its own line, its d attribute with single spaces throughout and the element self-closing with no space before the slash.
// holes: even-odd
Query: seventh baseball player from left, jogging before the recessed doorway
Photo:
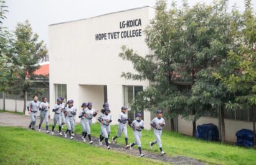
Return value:
<svg viewBox="0 0 256 165">
<path fill-rule="evenodd" d="M 92 118 L 95 117 L 98 114 L 98 110 L 95 111 L 95 109 L 92 108 L 92 102 L 88 102 L 87 104 L 88 109 L 85 110 L 85 129 L 86 133 L 83 136 L 85 138 L 88 134 L 88 138 L 90 141 L 90 145 L 92 145 L 93 141 L 91 138 L 91 125 L 92 125 Z"/>
</svg>

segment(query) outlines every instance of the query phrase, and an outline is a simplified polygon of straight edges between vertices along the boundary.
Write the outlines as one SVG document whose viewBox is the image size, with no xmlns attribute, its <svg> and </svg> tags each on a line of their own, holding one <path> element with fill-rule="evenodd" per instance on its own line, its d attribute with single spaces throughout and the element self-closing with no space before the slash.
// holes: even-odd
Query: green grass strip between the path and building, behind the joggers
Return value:
<svg viewBox="0 0 256 165">
<path fill-rule="evenodd" d="M 117 133 L 117 125 L 111 126 L 110 138 Z M 75 128 L 76 133 L 81 133 L 80 124 Z M 92 136 L 99 136 L 100 125 L 92 125 Z M 217 164 L 256 164 L 256 150 L 239 146 L 222 145 L 219 142 L 203 141 L 176 132 L 163 132 L 163 149 L 169 156 L 188 156 L 207 163 Z M 116 139 L 118 143 L 125 145 L 123 134 Z M 149 149 L 149 141 L 154 140 L 153 131 L 143 130 L 142 149 Z M 128 143 L 134 141 L 133 132 L 128 128 Z M 153 146 L 153 151 L 159 152 L 158 145 Z"/>
</svg>

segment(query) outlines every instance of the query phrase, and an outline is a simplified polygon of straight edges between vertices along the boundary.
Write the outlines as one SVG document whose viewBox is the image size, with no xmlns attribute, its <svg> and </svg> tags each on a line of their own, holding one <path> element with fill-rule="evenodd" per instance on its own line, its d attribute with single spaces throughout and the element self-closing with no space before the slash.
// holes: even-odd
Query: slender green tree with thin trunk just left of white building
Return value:
<svg viewBox="0 0 256 165">
<path fill-rule="evenodd" d="M 24 109 L 26 110 L 27 91 L 32 86 L 31 79 L 34 78 L 34 71 L 40 66 L 37 65 L 39 60 L 47 54 L 47 49 L 43 41 L 38 41 L 39 36 L 32 32 L 31 24 L 26 20 L 23 24 L 17 24 L 15 30 L 16 40 L 14 48 L 16 60 L 14 63 L 19 66 L 19 82 L 24 95 Z"/>
</svg>

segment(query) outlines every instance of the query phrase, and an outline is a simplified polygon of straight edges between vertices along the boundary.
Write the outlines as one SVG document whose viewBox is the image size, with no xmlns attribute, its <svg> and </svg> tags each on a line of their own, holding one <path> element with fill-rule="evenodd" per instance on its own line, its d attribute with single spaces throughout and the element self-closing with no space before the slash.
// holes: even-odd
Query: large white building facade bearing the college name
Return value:
<svg viewBox="0 0 256 165">
<path fill-rule="evenodd" d="M 122 60 L 118 56 L 121 46 L 133 48 L 141 56 L 148 55 L 150 51 L 146 46 L 144 33 L 141 37 L 107 40 L 95 40 L 95 35 L 135 29 L 143 31 L 153 16 L 152 7 L 141 7 L 90 19 L 50 25 L 50 106 L 54 105 L 56 99 L 54 84 L 67 84 L 67 100 L 73 99 L 76 107 L 94 98 L 94 96 L 82 94 L 82 91 L 90 93 L 89 88 L 82 86 L 107 86 L 113 124 L 116 124 L 123 105 L 123 86 L 147 87 L 149 84 L 148 81 L 121 78 L 122 72 L 135 73 L 131 62 Z M 141 19 L 141 25 L 120 28 L 120 22 L 134 19 Z M 103 93 L 102 91 L 95 92 L 98 92 L 98 100 L 101 102 L 98 104 L 98 100 L 95 100 L 95 107 L 101 108 Z M 150 119 L 150 113 L 145 112 L 145 117 Z"/>
</svg>

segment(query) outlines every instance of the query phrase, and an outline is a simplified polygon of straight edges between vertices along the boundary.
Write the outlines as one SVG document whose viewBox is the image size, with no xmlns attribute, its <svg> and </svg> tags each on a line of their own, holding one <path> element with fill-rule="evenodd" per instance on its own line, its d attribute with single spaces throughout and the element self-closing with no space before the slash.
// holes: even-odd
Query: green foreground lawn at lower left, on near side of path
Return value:
<svg viewBox="0 0 256 165">
<path fill-rule="evenodd" d="M 164 164 L 19 127 L 0 132 L 0 164 Z"/>
</svg>

